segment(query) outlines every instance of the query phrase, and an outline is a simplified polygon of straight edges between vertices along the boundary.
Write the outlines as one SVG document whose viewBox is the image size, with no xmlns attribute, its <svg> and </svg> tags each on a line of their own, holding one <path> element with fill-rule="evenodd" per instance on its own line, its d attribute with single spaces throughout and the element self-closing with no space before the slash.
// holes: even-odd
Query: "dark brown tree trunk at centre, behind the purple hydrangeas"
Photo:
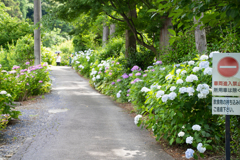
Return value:
<svg viewBox="0 0 240 160">
<path fill-rule="evenodd" d="M 129 18 L 137 18 L 136 6 L 128 13 Z M 136 38 L 131 29 L 125 31 L 125 57 L 128 58 L 131 52 L 136 52 Z"/>
</svg>

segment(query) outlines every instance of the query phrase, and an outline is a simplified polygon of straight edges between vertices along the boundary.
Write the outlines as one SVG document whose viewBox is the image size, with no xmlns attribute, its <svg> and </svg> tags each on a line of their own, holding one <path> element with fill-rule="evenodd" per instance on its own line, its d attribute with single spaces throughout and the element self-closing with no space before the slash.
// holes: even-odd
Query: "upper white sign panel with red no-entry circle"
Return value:
<svg viewBox="0 0 240 160">
<path fill-rule="evenodd" d="M 240 96 L 240 53 L 213 53 L 213 96 Z"/>
</svg>

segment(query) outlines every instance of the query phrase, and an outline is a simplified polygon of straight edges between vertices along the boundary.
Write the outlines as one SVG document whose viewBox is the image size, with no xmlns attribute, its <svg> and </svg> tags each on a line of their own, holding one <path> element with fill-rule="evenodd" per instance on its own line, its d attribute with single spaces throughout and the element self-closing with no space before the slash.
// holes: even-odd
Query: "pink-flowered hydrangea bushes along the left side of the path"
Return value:
<svg viewBox="0 0 240 160">
<path fill-rule="evenodd" d="M 20 115 L 13 107 L 13 101 L 49 92 L 50 87 L 46 64 L 30 66 L 30 62 L 26 62 L 23 67 L 13 66 L 11 71 L 3 70 L 0 65 L 0 128 Z"/>
</svg>

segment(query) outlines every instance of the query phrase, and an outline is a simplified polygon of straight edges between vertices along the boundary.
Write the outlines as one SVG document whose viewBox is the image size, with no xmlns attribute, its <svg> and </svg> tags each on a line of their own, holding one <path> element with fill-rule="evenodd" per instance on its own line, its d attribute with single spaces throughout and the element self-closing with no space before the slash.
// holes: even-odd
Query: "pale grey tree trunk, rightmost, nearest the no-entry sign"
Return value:
<svg viewBox="0 0 240 160">
<path fill-rule="evenodd" d="M 194 23 L 199 23 L 200 19 L 203 17 L 203 13 L 199 20 L 196 20 L 195 17 L 193 17 Z M 196 43 L 196 48 L 199 53 L 203 53 L 204 51 L 207 50 L 207 39 L 206 39 L 206 31 L 205 29 L 200 29 L 202 24 L 199 24 L 196 29 L 195 29 L 195 43 Z"/>
</svg>

